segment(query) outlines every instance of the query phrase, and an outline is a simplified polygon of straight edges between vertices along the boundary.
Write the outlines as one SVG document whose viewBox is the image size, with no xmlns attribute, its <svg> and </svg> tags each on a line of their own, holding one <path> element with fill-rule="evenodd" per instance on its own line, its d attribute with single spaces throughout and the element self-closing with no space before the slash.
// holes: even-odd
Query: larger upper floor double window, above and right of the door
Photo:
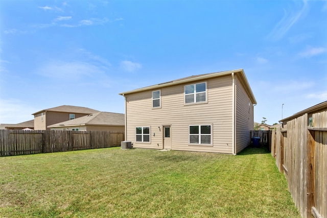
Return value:
<svg viewBox="0 0 327 218">
<path fill-rule="evenodd" d="M 206 82 L 185 86 L 185 104 L 206 102 Z"/>
</svg>

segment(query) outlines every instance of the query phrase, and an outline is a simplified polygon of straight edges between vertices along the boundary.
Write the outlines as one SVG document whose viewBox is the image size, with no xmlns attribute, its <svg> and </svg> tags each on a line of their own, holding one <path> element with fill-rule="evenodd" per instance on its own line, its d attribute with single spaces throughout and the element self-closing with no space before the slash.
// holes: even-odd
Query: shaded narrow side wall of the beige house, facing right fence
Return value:
<svg viewBox="0 0 327 218">
<path fill-rule="evenodd" d="M 251 143 L 250 131 L 253 130 L 253 104 L 249 99 L 239 77 L 236 85 L 236 153 Z M 250 106 L 249 106 L 250 104 Z"/>
</svg>

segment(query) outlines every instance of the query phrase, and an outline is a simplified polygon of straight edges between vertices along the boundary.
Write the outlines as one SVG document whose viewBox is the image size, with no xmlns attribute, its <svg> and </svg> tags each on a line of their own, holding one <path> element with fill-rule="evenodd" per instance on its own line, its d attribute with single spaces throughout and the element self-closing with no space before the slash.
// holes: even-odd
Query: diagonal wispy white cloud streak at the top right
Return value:
<svg viewBox="0 0 327 218">
<path fill-rule="evenodd" d="M 295 1 L 295 3 L 298 3 Z M 292 7 L 296 8 L 296 7 Z M 290 9 L 291 10 L 291 9 Z M 284 9 L 284 17 L 277 23 L 273 30 L 268 35 L 268 39 L 279 40 L 284 37 L 284 35 L 291 29 L 293 25 L 299 20 L 300 17 L 304 16 L 308 10 L 307 0 L 302 1 L 302 7 L 292 12 L 290 10 Z"/>
</svg>

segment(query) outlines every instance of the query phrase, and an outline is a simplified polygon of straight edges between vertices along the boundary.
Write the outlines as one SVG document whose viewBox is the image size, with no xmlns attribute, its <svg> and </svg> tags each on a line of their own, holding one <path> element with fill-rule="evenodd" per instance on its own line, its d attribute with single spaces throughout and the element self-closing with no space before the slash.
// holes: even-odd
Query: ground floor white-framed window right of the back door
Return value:
<svg viewBox="0 0 327 218">
<path fill-rule="evenodd" d="M 190 125 L 189 143 L 190 144 L 211 144 L 212 125 Z"/>
</svg>

